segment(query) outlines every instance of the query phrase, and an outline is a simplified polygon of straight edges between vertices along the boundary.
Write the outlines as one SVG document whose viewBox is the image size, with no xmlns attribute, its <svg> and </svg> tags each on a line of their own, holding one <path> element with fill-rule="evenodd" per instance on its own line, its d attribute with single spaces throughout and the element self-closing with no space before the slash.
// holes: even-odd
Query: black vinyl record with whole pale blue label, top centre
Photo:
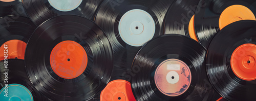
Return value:
<svg viewBox="0 0 256 101">
<path fill-rule="evenodd" d="M 106 32 L 113 45 L 114 71 L 116 71 L 113 75 L 116 79 L 131 80 L 130 67 L 133 58 L 144 43 L 163 35 L 161 33 L 163 18 L 172 2 L 168 0 L 102 2 L 94 21 Z"/>
</svg>

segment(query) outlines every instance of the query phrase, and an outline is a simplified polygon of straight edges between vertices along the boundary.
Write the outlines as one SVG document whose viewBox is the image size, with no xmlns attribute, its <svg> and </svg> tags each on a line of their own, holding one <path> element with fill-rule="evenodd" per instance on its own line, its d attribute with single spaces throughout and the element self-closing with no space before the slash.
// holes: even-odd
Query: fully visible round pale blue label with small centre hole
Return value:
<svg viewBox="0 0 256 101">
<path fill-rule="evenodd" d="M 118 30 L 126 44 L 139 47 L 154 37 L 155 22 L 146 11 L 133 9 L 122 16 Z"/>
</svg>

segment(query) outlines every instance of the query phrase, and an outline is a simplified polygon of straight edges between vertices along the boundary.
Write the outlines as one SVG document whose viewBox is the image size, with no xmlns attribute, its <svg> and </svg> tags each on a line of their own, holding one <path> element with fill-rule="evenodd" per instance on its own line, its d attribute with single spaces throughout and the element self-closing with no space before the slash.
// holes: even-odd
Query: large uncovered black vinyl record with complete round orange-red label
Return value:
<svg viewBox="0 0 256 101">
<path fill-rule="evenodd" d="M 91 20 L 62 15 L 41 24 L 25 53 L 28 76 L 53 100 L 89 100 L 109 82 L 113 50 Z"/>
</svg>

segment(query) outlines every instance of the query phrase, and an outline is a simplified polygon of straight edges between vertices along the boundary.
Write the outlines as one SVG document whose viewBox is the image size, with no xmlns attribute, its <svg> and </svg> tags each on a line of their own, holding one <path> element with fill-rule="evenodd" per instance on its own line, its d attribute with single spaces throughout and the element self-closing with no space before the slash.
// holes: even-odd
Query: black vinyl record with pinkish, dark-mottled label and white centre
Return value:
<svg viewBox="0 0 256 101">
<path fill-rule="evenodd" d="M 206 49 L 182 35 L 163 35 L 146 43 L 132 68 L 136 100 L 211 100 L 215 94 L 208 81 Z"/>
</svg>

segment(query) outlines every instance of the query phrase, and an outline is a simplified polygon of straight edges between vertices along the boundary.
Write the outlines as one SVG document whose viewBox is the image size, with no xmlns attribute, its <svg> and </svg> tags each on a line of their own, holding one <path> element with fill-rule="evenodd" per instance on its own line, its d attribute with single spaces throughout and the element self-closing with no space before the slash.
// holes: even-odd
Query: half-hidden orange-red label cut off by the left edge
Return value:
<svg viewBox="0 0 256 101">
<path fill-rule="evenodd" d="M 20 40 L 10 40 L 0 47 L 0 60 L 18 58 L 24 59 L 27 44 Z"/>
</svg>

